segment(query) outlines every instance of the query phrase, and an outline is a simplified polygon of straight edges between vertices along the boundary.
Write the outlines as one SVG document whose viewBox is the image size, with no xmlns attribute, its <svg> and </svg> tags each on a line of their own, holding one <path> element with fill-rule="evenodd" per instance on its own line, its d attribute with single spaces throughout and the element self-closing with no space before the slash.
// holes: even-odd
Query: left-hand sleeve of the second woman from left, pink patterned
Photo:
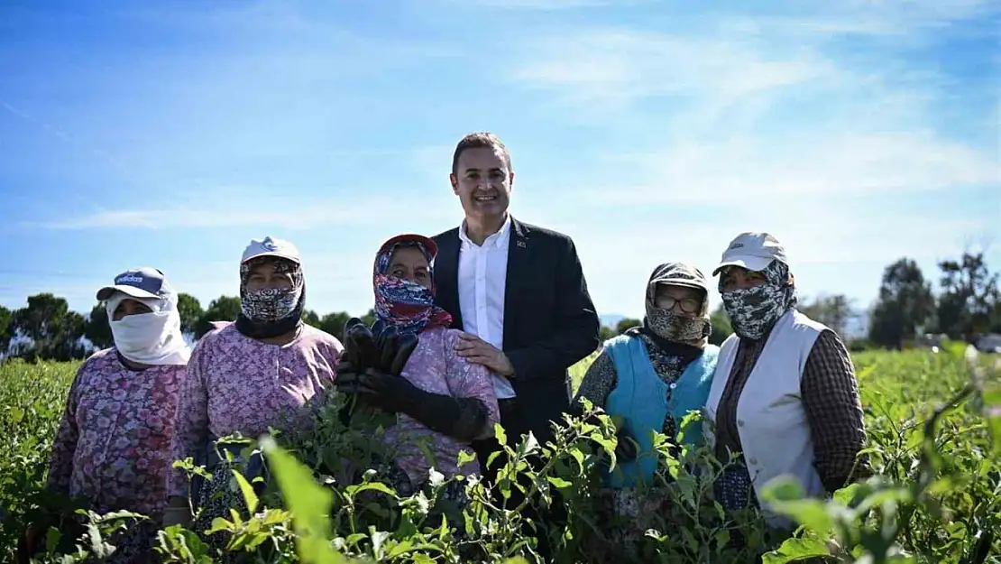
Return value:
<svg viewBox="0 0 1001 564">
<path fill-rule="evenodd" d="M 181 381 L 174 420 L 174 438 L 170 446 L 171 463 L 191 457 L 198 459 L 198 452 L 208 440 L 208 391 L 205 386 L 205 339 L 191 352 L 187 370 Z M 171 469 L 167 495 L 187 497 L 188 481 L 183 470 Z"/>
</svg>

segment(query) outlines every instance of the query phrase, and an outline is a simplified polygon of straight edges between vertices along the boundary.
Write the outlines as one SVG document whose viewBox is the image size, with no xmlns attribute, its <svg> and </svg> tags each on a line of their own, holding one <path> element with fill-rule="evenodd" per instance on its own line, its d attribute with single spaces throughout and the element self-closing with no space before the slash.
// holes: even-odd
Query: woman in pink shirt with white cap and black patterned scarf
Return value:
<svg viewBox="0 0 1001 564">
<path fill-rule="evenodd" d="M 285 240 L 252 240 L 240 260 L 240 314 L 219 324 L 191 354 L 180 391 L 174 460 L 213 458 L 214 441 L 239 433 L 257 438 L 269 427 L 307 426 L 311 407 L 323 400 L 343 348 L 333 336 L 302 323 L 305 285 L 299 252 Z M 213 479 L 192 492 L 202 508 L 196 531 L 228 516 L 242 496 L 230 491 L 230 473 L 209 468 Z M 188 524 L 188 481 L 171 473 L 168 523 Z M 224 496 L 212 494 L 222 491 Z M 212 535 L 212 544 L 224 541 Z"/>
</svg>

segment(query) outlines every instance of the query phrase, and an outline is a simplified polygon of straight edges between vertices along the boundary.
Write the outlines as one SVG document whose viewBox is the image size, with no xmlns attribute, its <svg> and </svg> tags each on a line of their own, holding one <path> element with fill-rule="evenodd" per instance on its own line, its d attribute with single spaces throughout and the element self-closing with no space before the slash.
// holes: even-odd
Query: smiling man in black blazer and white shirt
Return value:
<svg viewBox="0 0 1001 564">
<path fill-rule="evenodd" d="M 571 237 L 512 217 L 515 173 L 492 133 L 463 137 L 452 156 L 451 187 L 462 223 L 434 236 L 438 305 L 466 335 L 456 351 L 493 373 L 509 444 L 530 431 L 553 438 L 551 422 L 569 411 L 568 369 L 595 352 L 600 322 Z M 482 473 L 499 450 L 473 444 Z"/>
</svg>

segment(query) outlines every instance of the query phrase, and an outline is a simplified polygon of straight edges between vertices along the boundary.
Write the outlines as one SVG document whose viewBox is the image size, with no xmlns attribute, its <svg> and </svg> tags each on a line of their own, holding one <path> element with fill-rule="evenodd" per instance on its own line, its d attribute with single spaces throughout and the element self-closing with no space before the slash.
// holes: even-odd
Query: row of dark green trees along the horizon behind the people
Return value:
<svg viewBox="0 0 1001 564">
<path fill-rule="evenodd" d="M 820 296 L 800 301 L 798 309 L 814 320 L 845 335 L 849 325 L 868 319 L 866 338 L 850 340 L 853 350 L 871 347 L 901 349 L 923 335 L 944 335 L 949 339 L 973 342 L 977 336 L 1001 333 L 1001 291 L 998 272 L 992 272 L 983 252 L 964 252 L 958 259 L 938 263 L 939 293 L 932 291 L 917 262 L 903 257 L 886 266 L 879 296 L 868 311 L 861 311 L 844 295 Z M 221 296 L 202 308 L 198 300 L 180 294 L 177 302 L 181 331 L 197 341 L 211 331 L 212 324 L 236 319 L 239 298 Z M 336 312 L 319 316 L 307 310 L 304 323 L 341 338 L 344 323 L 351 316 Z M 720 305 L 712 313 L 710 342 L 723 343 L 733 333 L 726 311 Z M 361 320 L 371 325 L 369 310 Z M 640 320 L 624 319 L 617 327 L 603 327 L 602 340 L 619 335 Z M 107 313 L 97 304 L 86 316 L 69 309 L 65 299 L 52 294 L 28 298 L 27 306 L 10 311 L 0 307 L 0 355 L 35 361 L 70 361 L 86 357 L 93 349 L 113 345 Z"/>
</svg>

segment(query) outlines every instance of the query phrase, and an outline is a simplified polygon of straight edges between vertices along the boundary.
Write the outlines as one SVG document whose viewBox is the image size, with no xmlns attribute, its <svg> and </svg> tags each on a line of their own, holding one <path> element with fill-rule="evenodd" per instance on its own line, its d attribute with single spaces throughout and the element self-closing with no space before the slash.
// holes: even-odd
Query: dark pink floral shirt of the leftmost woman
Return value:
<svg viewBox="0 0 1001 564">
<path fill-rule="evenodd" d="M 48 487 L 159 520 L 183 366 L 125 368 L 114 349 L 92 355 L 73 381 L 49 463 Z"/>
</svg>

